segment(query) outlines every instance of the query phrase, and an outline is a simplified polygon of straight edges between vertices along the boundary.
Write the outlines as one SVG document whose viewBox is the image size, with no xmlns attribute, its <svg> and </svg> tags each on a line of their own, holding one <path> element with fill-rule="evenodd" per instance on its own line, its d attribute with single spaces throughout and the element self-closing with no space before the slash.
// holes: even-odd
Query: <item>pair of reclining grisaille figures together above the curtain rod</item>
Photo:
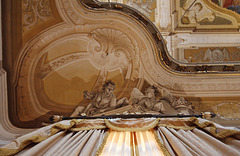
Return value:
<svg viewBox="0 0 240 156">
<path fill-rule="evenodd" d="M 146 88 L 143 94 L 137 88 L 134 88 L 130 100 L 126 97 L 117 99 L 113 91 L 115 90 L 115 83 L 106 81 L 102 90 L 94 93 L 84 91 L 84 99 L 91 100 L 85 106 L 77 106 L 70 117 L 77 116 L 94 116 L 103 113 L 110 113 L 114 110 L 116 113 L 152 113 L 176 115 L 184 114 L 190 115 L 193 113 L 191 103 L 186 101 L 183 97 L 177 99 L 168 91 L 163 90 L 163 96 L 159 96 L 158 88 L 155 85 L 150 85 Z M 118 108 L 128 107 L 128 110 L 122 111 Z M 112 113 L 113 114 L 113 113 Z"/>
</svg>

